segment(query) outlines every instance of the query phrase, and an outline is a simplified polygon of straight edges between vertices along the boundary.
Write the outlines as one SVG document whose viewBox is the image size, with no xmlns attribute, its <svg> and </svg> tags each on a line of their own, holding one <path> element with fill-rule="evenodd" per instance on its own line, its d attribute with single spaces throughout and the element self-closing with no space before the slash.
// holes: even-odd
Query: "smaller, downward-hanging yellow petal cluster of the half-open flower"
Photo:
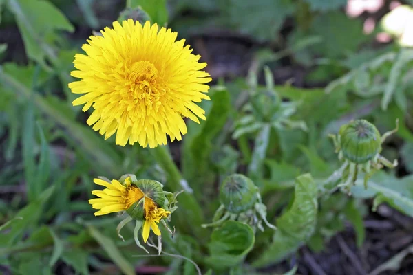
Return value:
<svg viewBox="0 0 413 275">
<path fill-rule="evenodd" d="M 171 212 L 158 208 L 156 203 L 151 199 L 145 197 L 145 223 L 143 224 L 142 237 L 146 243 L 149 238 L 149 232 L 153 231 L 157 236 L 160 236 L 160 230 L 156 223 L 159 223 L 161 219 L 168 217 Z"/>
</svg>

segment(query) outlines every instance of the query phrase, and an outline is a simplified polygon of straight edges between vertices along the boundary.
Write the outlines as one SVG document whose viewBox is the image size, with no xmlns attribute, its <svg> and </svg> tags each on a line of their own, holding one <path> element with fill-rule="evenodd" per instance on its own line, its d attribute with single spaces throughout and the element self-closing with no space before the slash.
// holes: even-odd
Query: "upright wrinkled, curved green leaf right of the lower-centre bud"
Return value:
<svg viewBox="0 0 413 275">
<path fill-rule="evenodd" d="M 310 174 L 296 179 L 291 207 L 277 219 L 271 245 L 253 262 L 255 267 L 277 263 L 307 241 L 317 223 L 317 185 Z"/>
</svg>

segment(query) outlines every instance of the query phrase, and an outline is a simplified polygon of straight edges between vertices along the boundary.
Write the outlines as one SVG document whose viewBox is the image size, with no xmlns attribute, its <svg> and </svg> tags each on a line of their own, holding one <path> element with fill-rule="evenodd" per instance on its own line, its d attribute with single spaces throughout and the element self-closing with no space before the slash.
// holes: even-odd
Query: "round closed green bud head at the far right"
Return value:
<svg viewBox="0 0 413 275">
<path fill-rule="evenodd" d="M 381 135 L 367 120 L 355 120 L 341 126 L 339 136 L 343 157 L 356 164 L 372 160 L 381 149 Z"/>
</svg>

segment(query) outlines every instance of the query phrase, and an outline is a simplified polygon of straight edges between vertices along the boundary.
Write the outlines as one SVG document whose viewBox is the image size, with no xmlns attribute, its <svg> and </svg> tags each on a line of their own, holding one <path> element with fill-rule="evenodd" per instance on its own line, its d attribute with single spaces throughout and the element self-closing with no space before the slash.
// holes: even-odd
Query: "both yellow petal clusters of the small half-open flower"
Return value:
<svg viewBox="0 0 413 275">
<path fill-rule="evenodd" d="M 99 197 L 98 199 L 89 199 L 89 204 L 92 204 L 92 208 L 99 210 L 94 213 L 95 216 L 125 211 L 136 201 L 145 199 L 143 203 L 145 220 L 142 229 L 143 241 L 147 242 L 151 229 L 153 233 L 160 236 L 157 223 L 163 218 L 168 217 L 171 212 L 158 207 L 151 198 L 145 196 L 140 188 L 131 183 L 129 177 L 125 179 L 125 186 L 116 179 L 112 180 L 111 184 L 102 179 L 94 179 L 94 183 L 106 187 L 103 191 L 92 191 L 93 195 Z"/>
</svg>

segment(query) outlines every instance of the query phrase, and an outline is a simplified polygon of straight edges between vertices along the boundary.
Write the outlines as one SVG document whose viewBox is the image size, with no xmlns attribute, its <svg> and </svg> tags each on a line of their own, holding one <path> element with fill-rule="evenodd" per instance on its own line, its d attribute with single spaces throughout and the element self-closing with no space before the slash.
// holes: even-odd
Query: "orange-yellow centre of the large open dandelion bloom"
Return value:
<svg viewBox="0 0 413 275">
<path fill-rule="evenodd" d="M 135 100 L 143 100 L 149 109 L 160 105 L 160 92 L 157 82 L 158 69 L 149 61 L 138 61 L 131 65 L 129 74 L 129 83 L 131 94 Z"/>
</svg>

